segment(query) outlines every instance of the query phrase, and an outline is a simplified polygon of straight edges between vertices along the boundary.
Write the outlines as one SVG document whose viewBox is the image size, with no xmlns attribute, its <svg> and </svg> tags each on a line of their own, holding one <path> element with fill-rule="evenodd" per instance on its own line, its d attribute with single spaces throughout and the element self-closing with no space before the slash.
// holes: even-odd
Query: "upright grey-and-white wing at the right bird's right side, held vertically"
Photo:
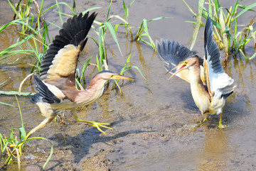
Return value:
<svg viewBox="0 0 256 171">
<path fill-rule="evenodd" d="M 224 72 L 220 63 L 220 52 L 213 40 L 213 23 L 209 16 L 204 33 L 204 48 L 203 69 L 210 96 L 231 94 L 235 89 L 234 79 Z"/>
</svg>

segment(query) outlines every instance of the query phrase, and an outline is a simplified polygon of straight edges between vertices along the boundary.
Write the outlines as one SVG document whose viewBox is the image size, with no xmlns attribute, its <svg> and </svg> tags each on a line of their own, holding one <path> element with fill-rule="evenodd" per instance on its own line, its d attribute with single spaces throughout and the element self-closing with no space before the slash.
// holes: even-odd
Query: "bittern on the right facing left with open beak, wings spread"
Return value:
<svg viewBox="0 0 256 171">
<path fill-rule="evenodd" d="M 203 59 L 174 40 L 160 40 L 160 43 L 156 41 L 156 48 L 168 65 L 166 70 L 173 74 L 171 77 L 176 75 L 191 84 L 193 100 L 205 116 L 203 121 L 206 121 L 208 114 L 219 114 L 218 127 L 225 128 L 222 124 L 223 107 L 225 99 L 233 93 L 235 83 L 234 79 L 224 72 L 220 63 L 220 52 L 213 40 L 213 24 L 210 17 L 207 18 L 204 32 Z"/>
</svg>

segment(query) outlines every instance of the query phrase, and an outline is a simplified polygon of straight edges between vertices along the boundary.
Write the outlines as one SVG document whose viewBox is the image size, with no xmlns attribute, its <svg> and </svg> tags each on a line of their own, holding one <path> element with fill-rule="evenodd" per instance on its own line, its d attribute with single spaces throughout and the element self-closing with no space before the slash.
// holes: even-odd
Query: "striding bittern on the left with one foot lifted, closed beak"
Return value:
<svg viewBox="0 0 256 171">
<path fill-rule="evenodd" d="M 73 16 L 63 24 L 59 35 L 50 44 L 41 65 L 41 75 L 34 75 L 36 89 L 31 102 L 37 104 L 43 116 L 46 117 L 36 128 L 33 128 L 26 138 L 40 128 L 46 126 L 57 116 L 58 111 L 71 110 L 76 121 L 78 118 L 75 109 L 96 101 L 102 95 L 105 83 L 110 79 L 132 79 L 117 75 L 114 72 L 102 71 L 92 78 L 85 90 L 75 87 L 75 70 L 78 64 L 80 52 L 87 42 L 87 33 L 90 30 L 96 13 L 85 13 L 82 16 Z M 95 126 L 99 131 L 100 126 L 109 128 L 108 123 L 97 123 L 95 121 L 82 121 L 89 126 Z"/>
</svg>

